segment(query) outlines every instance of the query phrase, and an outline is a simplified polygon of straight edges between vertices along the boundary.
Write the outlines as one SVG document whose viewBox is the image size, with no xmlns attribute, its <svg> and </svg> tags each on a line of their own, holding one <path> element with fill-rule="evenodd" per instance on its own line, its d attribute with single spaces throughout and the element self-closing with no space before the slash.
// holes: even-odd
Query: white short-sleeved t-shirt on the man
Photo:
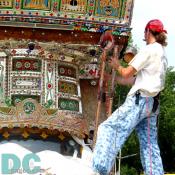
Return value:
<svg viewBox="0 0 175 175">
<path fill-rule="evenodd" d="M 167 58 L 161 44 L 148 44 L 129 63 L 137 70 L 136 80 L 128 95 L 140 90 L 142 96 L 156 96 L 164 89 Z"/>
</svg>

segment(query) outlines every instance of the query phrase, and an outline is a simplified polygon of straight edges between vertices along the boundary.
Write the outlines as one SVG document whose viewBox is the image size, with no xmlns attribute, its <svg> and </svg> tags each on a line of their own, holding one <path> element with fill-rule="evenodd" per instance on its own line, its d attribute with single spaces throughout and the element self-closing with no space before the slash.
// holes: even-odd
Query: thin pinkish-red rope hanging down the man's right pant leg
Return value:
<svg viewBox="0 0 175 175">
<path fill-rule="evenodd" d="M 152 156 L 151 156 L 151 142 L 150 142 L 150 113 L 149 113 L 149 106 L 148 106 L 148 97 L 146 97 L 146 113 L 148 118 L 148 147 L 149 147 L 149 161 L 150 161 L 150 175 L 152 175 Z"/>
</svg>

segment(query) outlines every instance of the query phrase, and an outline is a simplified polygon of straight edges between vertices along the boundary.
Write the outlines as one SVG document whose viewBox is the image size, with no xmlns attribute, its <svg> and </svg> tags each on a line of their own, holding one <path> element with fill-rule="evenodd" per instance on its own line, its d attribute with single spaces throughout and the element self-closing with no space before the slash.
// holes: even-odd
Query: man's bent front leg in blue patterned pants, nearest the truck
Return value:
<svg viewBox="0 0 175 175">
<path fill-rule="evenodd" d="M 106 121 L 100 124 L 93 155 L 93 169 L 100 175 L 107 175 L 115 156 L 134 127 L 139 123 L 139 106 L 135 96 L 128 97 Z"/>
</svg>

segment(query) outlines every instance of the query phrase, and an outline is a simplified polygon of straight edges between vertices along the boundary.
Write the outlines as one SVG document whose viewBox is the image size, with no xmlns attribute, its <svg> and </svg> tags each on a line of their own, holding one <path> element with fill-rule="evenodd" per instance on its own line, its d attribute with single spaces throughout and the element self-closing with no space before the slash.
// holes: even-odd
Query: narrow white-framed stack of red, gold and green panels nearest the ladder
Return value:
<svg viewBox="0 0 175 175">
<path fill-rule="evenodd" d="M 58 109 L 82 113 L 78 66 L 66 62 L 57 65 Z"/>
</svg>

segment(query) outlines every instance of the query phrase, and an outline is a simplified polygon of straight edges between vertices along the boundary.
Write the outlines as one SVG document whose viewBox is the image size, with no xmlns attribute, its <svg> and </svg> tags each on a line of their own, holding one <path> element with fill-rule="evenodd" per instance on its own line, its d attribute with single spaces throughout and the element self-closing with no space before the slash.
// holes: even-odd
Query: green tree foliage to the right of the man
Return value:
<svg viewBox="0 0 175 175">
<path fill-rule="evenodd" d="M 175 172 L 175 71 L 166 74 L 165 89 L 160 97 L 159 145 L 164 169 Z"/>
</svg>

